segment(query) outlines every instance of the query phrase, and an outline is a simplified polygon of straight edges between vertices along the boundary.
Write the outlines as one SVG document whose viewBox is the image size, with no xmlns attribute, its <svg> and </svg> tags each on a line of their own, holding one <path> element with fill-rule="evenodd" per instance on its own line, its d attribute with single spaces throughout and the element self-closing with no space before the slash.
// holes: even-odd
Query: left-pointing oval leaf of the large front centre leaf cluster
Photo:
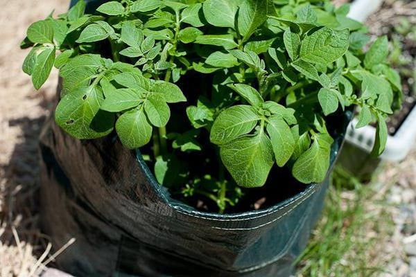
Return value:
<svg viewBox="0 0 416 277">
<path fill-rule="evenodd" d="M 221 145 L 250 133 L 260 120 L 257 111 L 248 105 L 225 109 L 211 128 L 211 142 Z"/>
</svg>

